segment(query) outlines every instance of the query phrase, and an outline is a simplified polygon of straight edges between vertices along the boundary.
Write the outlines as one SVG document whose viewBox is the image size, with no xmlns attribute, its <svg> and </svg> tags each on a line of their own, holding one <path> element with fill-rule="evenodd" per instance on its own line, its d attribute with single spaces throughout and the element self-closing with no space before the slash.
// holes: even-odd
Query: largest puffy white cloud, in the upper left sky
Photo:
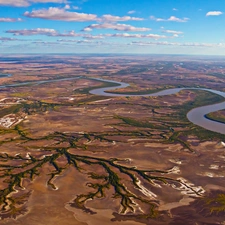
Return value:
<svg viewBox="0 0 225 225">
<path fill-rule="evenodd" d="M 24 16 L 30 18 L 41 18 L 47 20 L 62 20 L 62 21 L 92 21 L 96 20 L 95 14 L 69 12 L 63 8 L 50 7 L 48 9 L 33 10 L 32 12 L 25 12 Z"/>
</svg>

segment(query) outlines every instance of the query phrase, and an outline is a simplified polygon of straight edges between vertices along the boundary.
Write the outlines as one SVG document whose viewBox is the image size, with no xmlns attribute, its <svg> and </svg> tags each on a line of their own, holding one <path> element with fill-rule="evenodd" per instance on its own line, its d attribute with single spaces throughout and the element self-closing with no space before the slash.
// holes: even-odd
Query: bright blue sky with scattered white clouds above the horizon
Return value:
<svg viewBox="0 0 225 225">
<path fill-rule="evenodd" d="M 225 0 L 0 0 L 0 54 L 225 55 Z"/>
</svg>

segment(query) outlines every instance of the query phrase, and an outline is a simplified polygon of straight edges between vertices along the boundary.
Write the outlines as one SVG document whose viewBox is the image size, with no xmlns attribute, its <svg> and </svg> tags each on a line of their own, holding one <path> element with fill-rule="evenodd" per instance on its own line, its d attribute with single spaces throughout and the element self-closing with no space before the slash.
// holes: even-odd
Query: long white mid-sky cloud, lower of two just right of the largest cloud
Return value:
<svg viewBox="0 0 225 225">
<path fill-rule="evenodd" d="M 113 29 L 118 31 L 149 31 L 150 28 L 146 27 L 134 27 L 127 24 L 112 24 L 112 23 L 102 23 L 102 24 L 91 24 L 85 27 L 83 31 L 92 31 L 93 29 Z"/>
</svg>

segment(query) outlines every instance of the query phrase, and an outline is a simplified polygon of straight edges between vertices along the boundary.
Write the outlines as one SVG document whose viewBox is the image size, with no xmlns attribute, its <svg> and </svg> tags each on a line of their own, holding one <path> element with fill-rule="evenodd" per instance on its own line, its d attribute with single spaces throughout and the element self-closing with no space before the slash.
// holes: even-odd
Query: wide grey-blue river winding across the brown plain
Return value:
<svg viewBox="0 0 225 225">
<path fill-rule="evenodd" d="M 10 77 L 10 76 L 11 75 L 0 74 L 0 78 Z M 51 83 L 51 82 L 58 82 L 58 81 L 65 81 L 65 80 L 75 80 L 75 79 L 80 79 L 80 78 L 81 77 L 60 78 L 60 79 L 42 80 L 42 81 L 29 81 L 29 82 L 21 82 L 21 83 L 16 83 L 16 84 L 2 85 L 2 86 L 0 86 L 0 88 L 19 87 L 19 86 L 24 86 L 24 85 L 39 85 L 39 84 L 44 84 L 44 83 Z M 172 89 L 166 89 L 163 91 L 159 91 L 159 92 L 152 93 L 152 94 L 145 94 L 145 95 L 138 95 L 138 94 L 128 95 L 128 94 L 107 93 L 107 92 L 110 92 L 110 91 L 118 89 L 118 88 L 128 87 L 129 84 L 124 83 L 124 82 L 113 81 L 113 80 L 100 79 L 100 78 L 91 78 L 91 79 L 102 81 L 102 82 L 110 82 L 110 83 L 118 84 L 117 86 L 113 86 L 113 87 L 97 88 L 97 89 L 93 89 L 93 90 L 89 91 L 89 93 L 93 94 L 93 95 L 101 95 L 101 96 L 108 96 L 108 97 L 164 96 L 164 95 L 176 94 L 181 90 L 189 89 L 189 90 L 208 91 L 208 92 L 220 95 L 225 98 L 225 92 L 216 91 L 216 90 L 212 90 L 212 89 L 206 89 L 206 88 L 172 88 Z M 207 106 L 194 108 L 187 113 L 187 118 L 190 122 L 192 122 L 200 127 L 203 127 L 207 130 L 225 134 L 225 124 L 224 123 L 209 120 L 205 117 L 205 115 L 210 112 L 215 112 L 215 111 L 222 110 L 222 109 L 225 109 L 225 101 L 221 102 L 221 103 L 213 104 L 213 105 L 207 105 Z"/>
</svg>

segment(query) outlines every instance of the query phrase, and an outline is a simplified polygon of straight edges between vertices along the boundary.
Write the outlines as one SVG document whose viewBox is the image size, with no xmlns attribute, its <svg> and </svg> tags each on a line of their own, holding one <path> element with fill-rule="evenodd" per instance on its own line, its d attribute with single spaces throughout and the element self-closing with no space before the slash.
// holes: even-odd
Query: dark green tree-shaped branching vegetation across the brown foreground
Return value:
<svg viewBox="0 0 225 225">
<path fill-rule="evenodd" d="M 29 141 L 38 140 L 56 140 L 57 143 L 52 147 L 41 147 L 43 153 L 48 152 L 48 155 L 39 158 L 32 154 L 29 157 L 18 154 L 12 156 L 7 153 L 0 154 L 0 178 L 6 183 L 5 188 L 0 190 L 0 205 L 1 205 L 1 218 L 16 218 L 27 211 L 26 202 L 30 196 L 30 192 L 23 189 L 23 179 L 32 181 L 36 176 L 40 175 L 41 168 L 48 164 L 50 166 L 50 173 L 48 173 L 49 180 L 48 185 L 53 189 L 56 189 L 53 179 L 60 174 L 63 174 L 70 166 L 76 168 L 77 172 L 84 172 L 89 174 L 90 182 L 87 186 L 92 189 L 87 194 L 78 195 L 71 206 L 83 209 L 84 211 L 91 212 L 85 207 L 85 202 L 89 199 L 103 198 L 107 194 L 109 188 L 114 190 L 114 198 L 120 199 L 122 206 L 121 213 L 126 210 L 133 211 L 135 208 L 135 201 L 140 204 L 147 204 L 150 207 L 149 216 L 154 217 L 157 212 L 157 202 L 149 200 L 141 194 L 141 187 L 139 186 L 139 180 L 154 184 L 154 182 L 167 184 L 167 185 L 184 185 L 191 192 L 199 195 L 192 187 L 187 186 L 179 180 L 171 178 L 167 171 L 160 170 L 141 170 L 134 167 L 124 166 L 119 164 L 119 159 L 111 158 L 104 159 L 101 157 L 92 157 L 82 155 L 82 149 L 85 146 L 81 146 L 78 142 L 82 140 L 99 139 L 97 134 L 64 134 L 55 132 L 48 136 L 44 136 L 39 139 L 32 138 L 22 130 L 21 127 L 16 126 L 15 131 L 18 132 L 19 137 L 16 141 L 24 140 L 27 143 Z M 69 147 L 62 148 L 57 147 L 58 144 L 67 143 Z M 70 153 L 71 149 L 77 149 L 78 154 Z M 59 165 L 58 161 L 64 161 L 64 165 Z M 16 166 L 13 166 L 16 163 Z M 93 166 L 102 168 L 101 173 L 96 173 Z M 123 177 L 126 176 L 130 180 L 130 183 L 140 190 L 139 194 L 132 192 L 129 187 L 125 186 Z M 18 190 L 19 193 L 16 193 Z"/>
</svg>

